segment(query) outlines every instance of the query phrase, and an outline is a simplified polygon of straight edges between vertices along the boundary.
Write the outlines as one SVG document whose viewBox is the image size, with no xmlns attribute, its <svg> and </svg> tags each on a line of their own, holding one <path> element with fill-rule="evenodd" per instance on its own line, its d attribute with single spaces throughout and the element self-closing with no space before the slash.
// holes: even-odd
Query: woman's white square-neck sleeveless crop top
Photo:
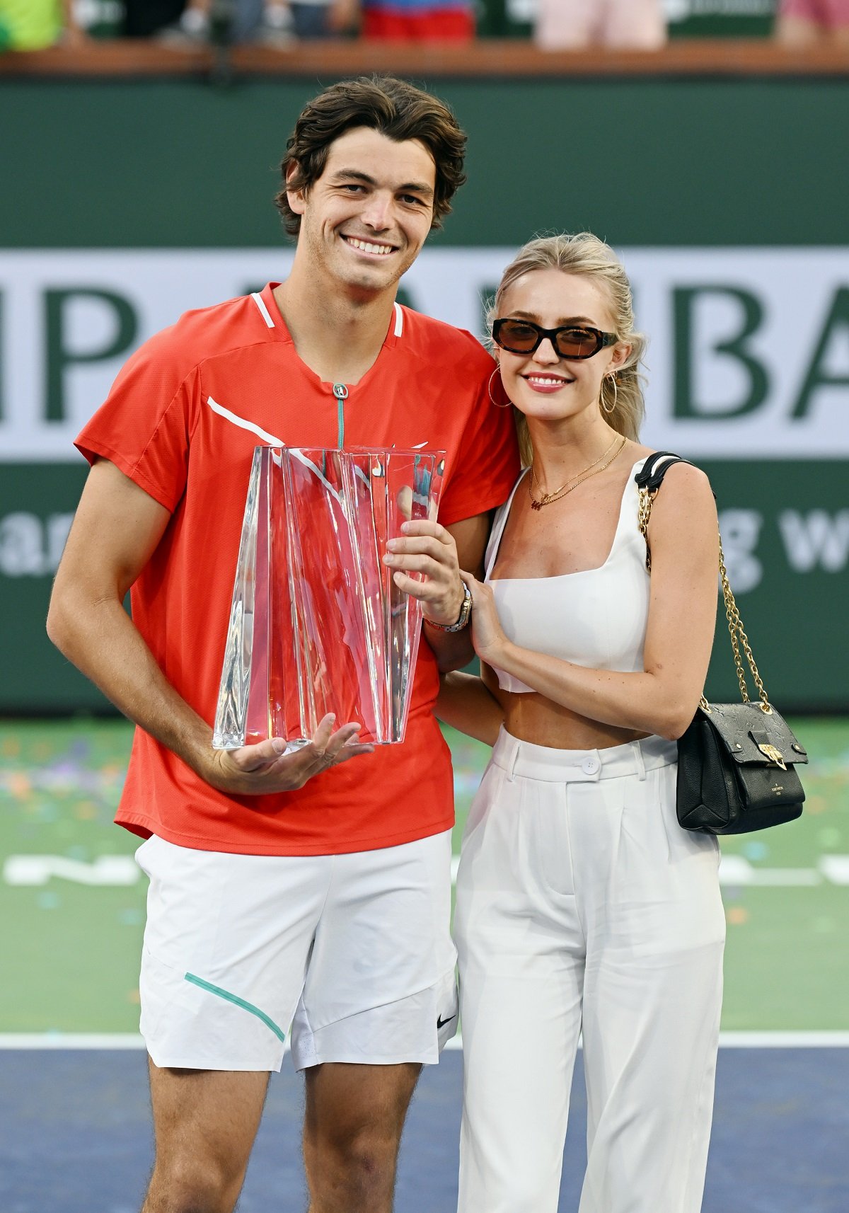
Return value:
<svg viewBox="0 0 849 1213">
<path fill-rule="evenodd" d="M 505 634 L 514 644 L 593 670 L 625 673 L 643 670 L 650 579 L 645 568 L 645 542 L 637 525 L 639 499 L 634 473 L 644 462 L 639 460 L 628 473 L 612 547 L 598 569 L 564 573 L 557 577 L 492 581 L 490 575 L 507 516 L 528 469 L 522 472 L 509 497 L 496 511 L 486 545 L 484 577 L 492 587 Z M 532 687 L 513 674 L 492 668 L 502 690 L 532 693 Z"/>
</svg>

